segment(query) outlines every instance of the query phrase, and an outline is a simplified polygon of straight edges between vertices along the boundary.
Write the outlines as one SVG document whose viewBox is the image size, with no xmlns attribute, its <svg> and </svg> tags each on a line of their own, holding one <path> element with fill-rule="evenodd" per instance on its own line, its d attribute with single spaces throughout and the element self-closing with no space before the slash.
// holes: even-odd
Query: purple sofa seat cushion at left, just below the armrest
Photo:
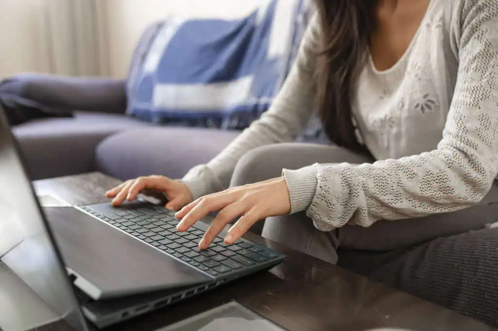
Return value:
<svg viewBox="0 0 498 331">
<path fill-rule="evenodd" d="M 13 133 L 32 179 L 95 171 L 95 149 L 106 137 L 147 124 L 125 115 L 77 113 L 74 118 L 34 120 Z"/>
</svg>

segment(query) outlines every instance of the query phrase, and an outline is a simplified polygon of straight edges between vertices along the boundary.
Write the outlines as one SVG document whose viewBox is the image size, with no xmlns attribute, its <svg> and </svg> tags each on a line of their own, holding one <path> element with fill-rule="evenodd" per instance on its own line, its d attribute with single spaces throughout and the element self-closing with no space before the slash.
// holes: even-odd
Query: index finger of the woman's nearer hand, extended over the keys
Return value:
<svg viewBox="0 0 498 331">
<path fill-rule="evenodd" d="M 230 193 L 218 193 L 202 198 L 199 203 L 182 218 L 182 221 L 177 226 L 178 231 L 187 231 L 201 218 L 207 216 L 211 212 L 225 208 L 233 203 L 234 200 L 235 195 Z"/>
</svg>

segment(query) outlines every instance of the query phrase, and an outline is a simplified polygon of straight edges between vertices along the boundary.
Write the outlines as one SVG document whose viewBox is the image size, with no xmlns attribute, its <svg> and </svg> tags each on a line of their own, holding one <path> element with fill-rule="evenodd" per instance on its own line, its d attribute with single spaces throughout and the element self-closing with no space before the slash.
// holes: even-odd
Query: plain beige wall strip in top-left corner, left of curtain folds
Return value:
<svg viewBox="0 0 498 331">
<path fill-rule="evenodd" d="M 20 72 L 46 72 L 45 0 L 0 0 L 0 79 Z"/>
</svg>

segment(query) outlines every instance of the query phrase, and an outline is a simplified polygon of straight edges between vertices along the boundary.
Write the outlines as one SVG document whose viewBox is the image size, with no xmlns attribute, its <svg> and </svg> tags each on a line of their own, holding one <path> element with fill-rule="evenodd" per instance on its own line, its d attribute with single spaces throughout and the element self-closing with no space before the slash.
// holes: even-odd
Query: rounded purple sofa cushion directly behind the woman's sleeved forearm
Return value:
<svg viewBox="0 0 498 331">
<path fill-rule="evenodd" d="M 97 166 L 122 180 L 151 174 L 181 178 L 191 167 L 209 162 L 239 134 L 176 127 L 125 131 L 99 145 Z"/>
</svg>

